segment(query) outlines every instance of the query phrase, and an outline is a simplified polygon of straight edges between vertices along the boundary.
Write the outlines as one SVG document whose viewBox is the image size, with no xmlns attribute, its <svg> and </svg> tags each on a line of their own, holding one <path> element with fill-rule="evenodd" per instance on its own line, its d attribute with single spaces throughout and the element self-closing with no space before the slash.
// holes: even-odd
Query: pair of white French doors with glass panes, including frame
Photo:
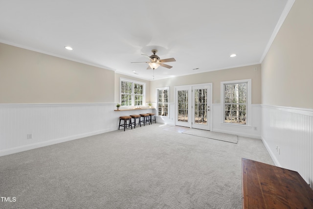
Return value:
<svg viewBox="0 0 313 209">
<path fill-rule="evenodd" d="M 179 86 L 175 125 L 210 130 L 211 84 Z"/>
</svg>

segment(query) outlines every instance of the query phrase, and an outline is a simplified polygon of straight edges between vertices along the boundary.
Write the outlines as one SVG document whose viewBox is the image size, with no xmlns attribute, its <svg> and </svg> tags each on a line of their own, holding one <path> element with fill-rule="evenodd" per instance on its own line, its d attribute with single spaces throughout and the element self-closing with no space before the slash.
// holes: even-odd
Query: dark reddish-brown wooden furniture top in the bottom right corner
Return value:
<svg viewBox="0 0 313 209">
<path fill-rule="evenodd" d="M 242 159 L 243 209 L 313 209 L 313 190 L 298 172 Z"/>
</svg>

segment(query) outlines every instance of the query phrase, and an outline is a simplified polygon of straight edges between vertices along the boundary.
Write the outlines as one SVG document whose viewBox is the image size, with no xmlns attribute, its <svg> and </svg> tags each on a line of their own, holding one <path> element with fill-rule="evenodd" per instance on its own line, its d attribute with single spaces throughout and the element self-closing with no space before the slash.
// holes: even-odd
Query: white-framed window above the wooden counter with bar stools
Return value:
<svg viewBox="0 0 313 209">
<path fill-rule="evenodd" d="M 145 83 L 120 80 L 121 106 L 142 106 L 145 98 Z"/>
</svg>

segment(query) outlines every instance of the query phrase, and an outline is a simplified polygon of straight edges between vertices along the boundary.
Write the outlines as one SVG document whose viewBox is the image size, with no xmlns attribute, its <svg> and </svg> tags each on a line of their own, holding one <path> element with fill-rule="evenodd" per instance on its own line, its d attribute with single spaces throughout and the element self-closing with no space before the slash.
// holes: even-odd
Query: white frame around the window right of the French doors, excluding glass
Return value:
<svg viewBox="0 0 313 209">
<path fill-rule="evenodd" d="M 234 84 L 242 84 L 246 83 L 246 124 L 239 123 L 225 123 L 225 111 L 224 111 L 224 85 L 234 85 Z M 243 80 L 233 80 L 233 81 L 222 81 L 221 82 L 221 124 L 229 125 L 229 126 L 240 126 L 240 127 L 251 127 L 251 79 L 243 79 Z"/>
</svg>

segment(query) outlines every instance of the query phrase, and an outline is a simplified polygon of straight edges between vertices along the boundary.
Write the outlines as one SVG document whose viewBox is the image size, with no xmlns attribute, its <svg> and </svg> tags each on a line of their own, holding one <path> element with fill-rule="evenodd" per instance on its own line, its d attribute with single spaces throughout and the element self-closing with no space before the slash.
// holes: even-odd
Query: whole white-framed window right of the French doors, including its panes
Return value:
<svg viewBox="0 0 313 209">
<path fill-rule="evenodd" d="M 223 123 L 247 125 L 251 104 L 251 79 L 221 82 L 221 94 Z"/>
</svg>

